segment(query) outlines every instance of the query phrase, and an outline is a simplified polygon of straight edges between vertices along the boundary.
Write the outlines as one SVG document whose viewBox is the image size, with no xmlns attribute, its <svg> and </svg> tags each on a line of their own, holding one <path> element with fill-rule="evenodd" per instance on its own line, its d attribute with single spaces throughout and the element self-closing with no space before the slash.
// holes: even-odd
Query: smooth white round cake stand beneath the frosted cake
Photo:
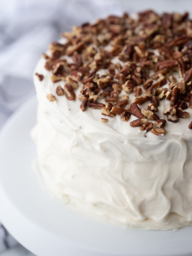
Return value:
<svg viewBox="0 0 192 256">
<path fill-rule="evenodd" d="M 35 123 L 33 97 L 0 136 L 0 220 L 23 246 L 38 256 L 192 255 L 192 227 L 176 232 L 115 228 L 52 198 L 31 168 L 36 150 L 29 132 Z"/>
</svg>

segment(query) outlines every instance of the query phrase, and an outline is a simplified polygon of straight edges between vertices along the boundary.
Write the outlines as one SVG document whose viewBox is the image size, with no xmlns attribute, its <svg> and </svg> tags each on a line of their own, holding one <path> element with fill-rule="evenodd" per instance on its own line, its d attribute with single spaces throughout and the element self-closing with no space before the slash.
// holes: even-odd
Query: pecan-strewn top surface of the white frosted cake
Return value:
<svg viewBox="0 0 192 256">
<path fill-rule="evenodd" d="M 34 77 L 58 125 L 153 141 L 192 138 L 188 13 L 108 16 L 62 36 L 43 54 Z"/>
</svg>

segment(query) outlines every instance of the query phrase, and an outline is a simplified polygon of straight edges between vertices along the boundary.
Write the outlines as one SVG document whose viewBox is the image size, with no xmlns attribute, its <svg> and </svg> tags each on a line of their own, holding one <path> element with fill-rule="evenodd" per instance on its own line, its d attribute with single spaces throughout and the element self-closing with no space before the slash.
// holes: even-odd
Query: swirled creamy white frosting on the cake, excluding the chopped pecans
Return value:
<svg viewBox="0 0 192 256">
<path fill-rule="evenodd" d="M 41 58 L 35 69 L 44 79 L 34 75 L 38 108 L 32 134 L 47 188 L 76 209 L 119 226 L 166 230 L 190 225 L 192 109 L 187 109 L 188 118 L 167 122 L 163 137 L 131 127 L 137 119 L 133 115 L 128 122 L 106 116 L 109 121 L 103 123 L 101 110 L 82 112 L 79 99 L 69 101 L 55 93 L 64 82 L 53 84 L 44 63 Z M 48 93 L 57 100 L 50 102 Z M 165 118 L 161 113 L 168 107 L 170 101 L 162 100 L 157 115 Z"/>
</svg>

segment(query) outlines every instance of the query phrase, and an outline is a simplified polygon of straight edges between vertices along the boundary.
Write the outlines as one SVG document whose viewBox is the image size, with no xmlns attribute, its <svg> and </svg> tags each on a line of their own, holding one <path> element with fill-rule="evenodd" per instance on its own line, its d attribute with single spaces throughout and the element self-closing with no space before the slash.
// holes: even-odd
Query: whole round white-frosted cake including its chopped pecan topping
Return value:
<svg viewBox="0 0 192 256">
<path fill-rule="evenodd" d="M 108 16 L 66 32 L 34 71 L 46 188 L 120 227 L 192 224 L 192 21 Z"/>
</svg>

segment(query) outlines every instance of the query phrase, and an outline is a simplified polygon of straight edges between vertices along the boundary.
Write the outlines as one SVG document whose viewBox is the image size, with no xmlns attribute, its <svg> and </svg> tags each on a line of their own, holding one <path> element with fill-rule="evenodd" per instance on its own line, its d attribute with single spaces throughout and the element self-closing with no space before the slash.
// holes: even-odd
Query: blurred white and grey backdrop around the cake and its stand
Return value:
<svg viewBox="0 0 192 256">
<path fill-rule="evenodd" d="M 0 1 L 0 129 L 35 93 L 32 72 L 48 44 L 72 25 L 123 12 L 154 9 L 185 12 L 191 0 L 9 0 Z M 12 249 L 10 249 L 12 248 Z M 0 225 L 0 255 L 34 255 Z"/>
</svg>

